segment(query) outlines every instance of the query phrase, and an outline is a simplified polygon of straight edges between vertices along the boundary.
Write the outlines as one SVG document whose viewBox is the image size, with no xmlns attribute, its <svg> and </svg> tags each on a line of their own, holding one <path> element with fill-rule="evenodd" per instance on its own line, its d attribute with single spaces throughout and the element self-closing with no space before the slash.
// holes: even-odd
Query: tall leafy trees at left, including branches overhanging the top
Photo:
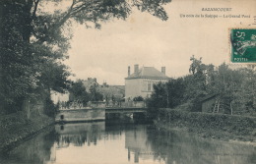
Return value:
<svg viewBox="0 0 256 164">
<path fill-rule="evenodd" d="M 170 0 L 1 0 L 0 112 L 22 110 L 26 102 L 63 92 L 70 82 L 68 58 L 71 26 L 100 27 L 113 18 L 126 19 L 135 7 L 161 20 Z M 68 4 L 69 3 L 69 4 Z"/>
</svg>

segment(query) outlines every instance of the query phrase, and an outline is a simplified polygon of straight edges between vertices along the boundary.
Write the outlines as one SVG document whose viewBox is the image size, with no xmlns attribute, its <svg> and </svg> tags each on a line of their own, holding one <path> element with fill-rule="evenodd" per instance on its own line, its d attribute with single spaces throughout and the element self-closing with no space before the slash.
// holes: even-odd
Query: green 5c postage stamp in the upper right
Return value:
<svg viewBox="0 0 256 164">
<path fill-rule="evenodd" d="M 256 28 L 231 28 L 232 63 L 256 64 Z"/>
</svg>

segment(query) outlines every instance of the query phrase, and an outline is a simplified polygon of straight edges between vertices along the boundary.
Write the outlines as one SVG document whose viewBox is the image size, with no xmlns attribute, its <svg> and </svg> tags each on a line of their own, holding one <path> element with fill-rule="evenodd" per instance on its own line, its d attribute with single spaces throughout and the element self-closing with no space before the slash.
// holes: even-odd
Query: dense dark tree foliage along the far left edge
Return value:
<svg viewBox="0 0 256 164">
<path fill-rule="evenodd" d="M 20 110 L 25 97 L 36 87 L 34 57 L 28 41 L 30 11 L 13 3 L 0 2 L 0 104 L 10 111 Z"/>
</svg>

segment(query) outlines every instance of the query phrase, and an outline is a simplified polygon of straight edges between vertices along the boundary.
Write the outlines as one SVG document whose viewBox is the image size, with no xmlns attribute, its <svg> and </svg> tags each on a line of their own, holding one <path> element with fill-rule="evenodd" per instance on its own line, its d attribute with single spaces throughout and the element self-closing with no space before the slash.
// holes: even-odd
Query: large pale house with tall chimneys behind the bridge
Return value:
<svg viewBox="0 0 256 164">
<path fill-rule="evenodd" d="M 134 65 L 134 73 L 131 74 L 128 67 L 128 77 L 125 78 L 125 100 L 132 100 L 134 97 L 148 97 L 154 91 L 153 85 L 158 82 L 168 82 L 165 75 L 165 67 L 161 67 L 161 72 L 154 67 L 142 67 Z"/>
</svg>

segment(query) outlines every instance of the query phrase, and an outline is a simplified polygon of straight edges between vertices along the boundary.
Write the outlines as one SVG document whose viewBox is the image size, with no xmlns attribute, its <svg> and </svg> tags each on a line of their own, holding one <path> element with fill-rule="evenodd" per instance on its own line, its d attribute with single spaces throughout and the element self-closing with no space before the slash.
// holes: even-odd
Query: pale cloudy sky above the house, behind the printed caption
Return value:
<svg viewBox="0 0 256 164">
<path fill-rule="evenodd" d="M 113 20 L 101 29 L 73 26 L 74 37 L 65 63 L 76 79 L 124 84 L 127 67 L 166 67 L 168 77 L 188 74 L 190 57 L 202 57 L 206 64 L 229 63 L 230 27 L 250 26 L 256 15 L 256 1 L 172 0 L 165 6 L 168 21 L 135 11 L 126 21 Z M 231 12 L 202 12 L 202 8 L 232 8 Z M 180 15 L 219 15 L 221 18 L 180 18 Z M 253 15 L 254 14 L 254 15 Z M 250 18 L 224 18 L 250 15 Z M 255 27 L 255 26 L 254 26 Z"/>
</svg>

